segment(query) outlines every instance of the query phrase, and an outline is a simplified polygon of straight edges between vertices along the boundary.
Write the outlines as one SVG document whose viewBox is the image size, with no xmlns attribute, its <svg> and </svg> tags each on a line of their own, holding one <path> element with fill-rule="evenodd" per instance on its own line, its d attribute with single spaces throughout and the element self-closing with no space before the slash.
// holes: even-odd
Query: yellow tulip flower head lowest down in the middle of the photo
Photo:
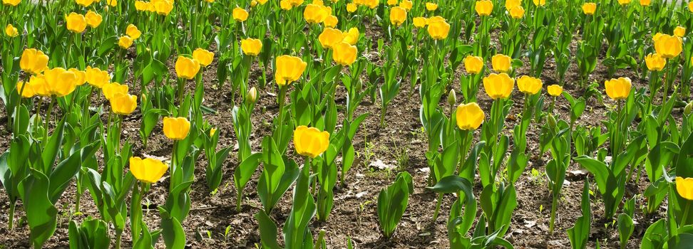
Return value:
<svg viewBox="0 0 693 249">
<path fill-rule="evenodd" d="M 296 153 L 316 158 L 329 147 L 329 132 L 320 132 L 315 127 L 301 125 L 294 130 L 294 148 Z"/>
</svg>

